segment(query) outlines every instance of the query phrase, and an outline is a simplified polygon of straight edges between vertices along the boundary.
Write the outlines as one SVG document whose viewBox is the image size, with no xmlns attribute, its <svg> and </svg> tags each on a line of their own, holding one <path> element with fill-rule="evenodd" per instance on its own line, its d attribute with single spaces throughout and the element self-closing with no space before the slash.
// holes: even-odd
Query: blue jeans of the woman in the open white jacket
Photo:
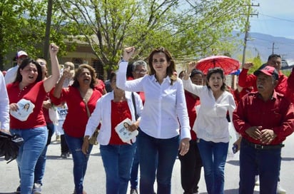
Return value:
<svg viewBox="0 0 294 194">
<path fill-rule="evenodd" d="M 100 146 L 106 173 L 106 194 L 126 194 L 135 148 L 134 144 Z"/>
</svg>

